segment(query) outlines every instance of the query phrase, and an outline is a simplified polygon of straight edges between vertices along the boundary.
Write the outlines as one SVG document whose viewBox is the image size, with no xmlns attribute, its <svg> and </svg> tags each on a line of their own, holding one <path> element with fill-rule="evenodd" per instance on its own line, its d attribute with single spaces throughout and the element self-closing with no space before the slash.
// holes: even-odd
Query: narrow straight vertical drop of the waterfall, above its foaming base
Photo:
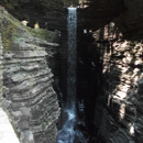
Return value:
<svg viewBox="0 0 143 143">
<path fill-rule="evenodd" d="M 76 8 L 68 9 L 67 109 L 75 110 L 76 97 Z"/>
</svg>

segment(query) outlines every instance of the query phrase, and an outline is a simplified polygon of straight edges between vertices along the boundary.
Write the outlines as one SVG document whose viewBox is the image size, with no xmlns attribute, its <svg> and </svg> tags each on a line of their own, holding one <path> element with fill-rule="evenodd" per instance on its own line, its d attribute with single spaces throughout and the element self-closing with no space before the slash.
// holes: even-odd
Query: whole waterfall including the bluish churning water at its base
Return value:
<svg viewBox="0 0 143 143">
<path fill-rule="evenodd" d="M 64 113 L 65 123 L 58 132 L 57 143 L 74 143 L 76 124 L 76 8 L 68 8 L 68 59 L 67 59 L 67 100 Z"/>
</svg>

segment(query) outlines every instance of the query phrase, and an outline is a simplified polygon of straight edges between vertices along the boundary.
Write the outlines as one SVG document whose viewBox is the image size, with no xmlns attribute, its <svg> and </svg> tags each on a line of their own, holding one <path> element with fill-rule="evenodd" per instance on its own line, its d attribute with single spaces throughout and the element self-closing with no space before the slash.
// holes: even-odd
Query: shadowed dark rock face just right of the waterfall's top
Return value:
<svg viewBox="0 0 143 143">
<path fill-rule="evenodd" d="M 78 32 L 97 30 L 124 11 L 123 0 L 89 0 L 78 9 Z"/>
</svg>

